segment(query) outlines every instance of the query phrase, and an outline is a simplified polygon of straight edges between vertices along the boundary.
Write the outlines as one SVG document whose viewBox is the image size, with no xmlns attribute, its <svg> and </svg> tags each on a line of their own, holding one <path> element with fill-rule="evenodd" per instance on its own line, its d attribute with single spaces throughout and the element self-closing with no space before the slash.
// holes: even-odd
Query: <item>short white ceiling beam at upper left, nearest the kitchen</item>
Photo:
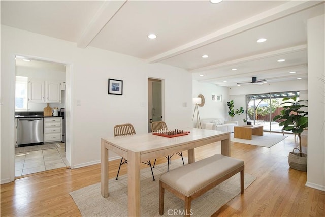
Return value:
<svg viewBox="0 0 325 217">
<path fill-rule="evenodd" d="M 90 42 L 101 32 L 103 27 L 114 17 L 123 7 L 127 0 L 123 1 L 104 1 L 100 9 L 93 16 L 82 36 L 77 42 L 77 47 L 86 48 Z"/>
</svg>

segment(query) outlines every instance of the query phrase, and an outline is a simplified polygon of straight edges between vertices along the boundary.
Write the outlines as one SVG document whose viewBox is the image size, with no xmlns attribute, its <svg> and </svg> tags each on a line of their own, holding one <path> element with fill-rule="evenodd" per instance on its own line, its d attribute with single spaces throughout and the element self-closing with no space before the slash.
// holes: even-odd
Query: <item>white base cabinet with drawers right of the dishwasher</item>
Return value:
<svg viewBox="0 0 325 217">
<path fill-rule="evenodd" d="M 44 118 L 44 143 L 62 140 L 62 117 Z"/>
</svg>

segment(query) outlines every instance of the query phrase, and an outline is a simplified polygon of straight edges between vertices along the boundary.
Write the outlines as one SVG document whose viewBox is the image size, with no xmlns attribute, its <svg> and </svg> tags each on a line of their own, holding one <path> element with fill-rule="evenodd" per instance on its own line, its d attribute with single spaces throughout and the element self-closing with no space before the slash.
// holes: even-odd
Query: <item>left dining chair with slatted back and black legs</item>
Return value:
<svg viewBox="0 0 325 217">
<path fill-rule="evenodd" d="M 115 125 L 114 126 L 114 137 L 115 136 L 127 136 L 127 135 L 134 135 L 136 134 L 136 131 L 133 127 L 133 125 L 131 123 L 124 123 L 122 125 Z M 144 164 L 147 164 L 150 166 L 150 169 L 151 169 L 151 173 L 152 173 L 152 178 L 153 180 L 154 179 L 154 175 L 153 175 L 153 171 L 152 171 L 152 166 L 151 166 L 151 162 L 150 161 L 147 161 L 147 162 L 142 162 Z M 116 175 L 116 180 L 118 178 L 118 174 L 120 172 L 120 168 L 121 168 L 121 165 L 123 164 L 127 164 L 127 159 L 125 158 L 121 158 L 121 162 L 120 162 L 120 165 L 118 167 L 118 171 L 117 171 L 117 175 Z"/>
</svg>

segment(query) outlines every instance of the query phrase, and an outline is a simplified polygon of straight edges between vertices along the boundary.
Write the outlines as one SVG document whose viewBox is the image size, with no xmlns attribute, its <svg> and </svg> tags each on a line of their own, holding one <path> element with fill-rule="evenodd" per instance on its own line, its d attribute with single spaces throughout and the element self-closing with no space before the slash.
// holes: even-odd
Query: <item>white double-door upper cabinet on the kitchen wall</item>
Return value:
<svg viewBox="0 0 325 217">
<path fill-rule="evenodd" d="M 28 102 L 61 103 L 61 83 L 59 81 L 41 81 L 30 78 L 28 90 Z"/>
</svg>

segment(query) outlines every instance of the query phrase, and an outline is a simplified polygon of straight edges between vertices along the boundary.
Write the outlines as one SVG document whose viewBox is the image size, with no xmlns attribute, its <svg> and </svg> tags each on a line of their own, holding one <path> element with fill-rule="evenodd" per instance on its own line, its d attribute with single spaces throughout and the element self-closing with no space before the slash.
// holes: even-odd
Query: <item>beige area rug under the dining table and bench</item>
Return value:
<svg viewBox="0 0 325 217">
<path fill-rule="evenodd" d="M 183 166 L 181 160 L 177 159 L 172 161 L 170 169 L 180 166 Z M 160 216 L 159 177 L 166 170 L 165 163 L 155 166 L 153 169 L 155 181 L 152 180 L 149 167 L 141 170 L 141 216 Z M 255 177 L 245 174 L 245 188 L 254 180 Z M 240 173 L 193 200 L 192 216 L 211 216 L 238 194 L 240 194 Z M 101 195 L 100 183 L 71 192 L 70 195 L 82 216 L 127 216 L 127 175 L 119 176 L 118 180 L 115 178 L 109 180 L 107 198 Z M 184 201 L 166 190 L 163 216 L 174 215 L 174 210 L 184 210 Z"/>
</svg>

